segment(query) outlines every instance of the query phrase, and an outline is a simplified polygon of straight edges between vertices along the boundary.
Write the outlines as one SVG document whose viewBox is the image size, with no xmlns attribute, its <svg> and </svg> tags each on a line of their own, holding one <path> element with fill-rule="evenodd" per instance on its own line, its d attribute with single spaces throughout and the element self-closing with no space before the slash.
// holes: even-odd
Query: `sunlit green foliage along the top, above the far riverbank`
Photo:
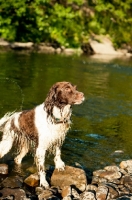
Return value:
<svg viewBox="0 0 132 200">
<path fill-rule="evenodd" d="M 78 47 L 91 34 L 132 45 L 131 0 L 0 0 L 0 37 Z"/>
</svg>

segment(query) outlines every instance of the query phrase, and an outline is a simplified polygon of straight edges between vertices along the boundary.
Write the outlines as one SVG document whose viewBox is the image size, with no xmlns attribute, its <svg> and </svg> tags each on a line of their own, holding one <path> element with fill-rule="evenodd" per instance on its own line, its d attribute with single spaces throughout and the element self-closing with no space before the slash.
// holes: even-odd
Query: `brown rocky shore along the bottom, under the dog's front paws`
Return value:
<svg viewBox="0 0 132 200">
<path fill-rule="evenodd" d="M 37 173 L 10 176 L 0 164 L 0 200 L 132 200 L 132 160 L 93 171 L 79 164 L 46 171 L 50 187 L 39 187 Z"/>
</svg>

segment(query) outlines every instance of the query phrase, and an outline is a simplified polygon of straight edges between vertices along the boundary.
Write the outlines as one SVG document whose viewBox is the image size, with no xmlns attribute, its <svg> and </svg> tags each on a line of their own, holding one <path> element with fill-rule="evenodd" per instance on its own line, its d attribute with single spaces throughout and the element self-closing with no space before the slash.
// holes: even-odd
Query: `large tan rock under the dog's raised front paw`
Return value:
<svg viewBox="0 0 132 200">
<path fill-rule="evenodd" d="M 87 185 L 86 174 L 84 170 L 71 166 L 66 166 L 64 171 L 55 169 L 51 177 L 51 185 L 60 188 L 74 185 L 80 191 L 84 191 Z"/>
</svg>

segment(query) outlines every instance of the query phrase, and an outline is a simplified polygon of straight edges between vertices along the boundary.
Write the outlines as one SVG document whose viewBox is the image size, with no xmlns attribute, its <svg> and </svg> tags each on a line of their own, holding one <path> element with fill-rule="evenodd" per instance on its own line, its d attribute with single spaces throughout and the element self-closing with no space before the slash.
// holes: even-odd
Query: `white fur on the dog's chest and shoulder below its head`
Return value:
<svg viewBox="0 0 132 200">
<path fill-rule="evenodd" d="M 51 151 L 53 151 L 54 145 L 61 146 L 70 128 L 70 105 L 65 106 L 62 110 L 54 106 L 53 116 L 59 120 L 58 123 L 54 123 L 50 117 L 47 118 L 44 104 L 35 109 L 35 125 L 38 130 L 39 144 L 46 149 L 52 149 Z"/>
</svg>

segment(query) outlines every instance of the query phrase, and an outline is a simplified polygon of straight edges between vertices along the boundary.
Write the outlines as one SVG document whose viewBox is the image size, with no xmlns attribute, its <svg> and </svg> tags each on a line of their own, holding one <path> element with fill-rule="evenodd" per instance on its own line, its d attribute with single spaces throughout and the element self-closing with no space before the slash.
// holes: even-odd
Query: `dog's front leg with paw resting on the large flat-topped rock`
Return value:
<svg viewBox="0 0 132 200">
<path fill-rule="evenodd" d="M 56 147 L 56 155 L 54 158 L 55 168 L 58 170 L 64 170 L 65 163 L 61 160 L 61 150 L 59 147 Z"/>
</svg>

